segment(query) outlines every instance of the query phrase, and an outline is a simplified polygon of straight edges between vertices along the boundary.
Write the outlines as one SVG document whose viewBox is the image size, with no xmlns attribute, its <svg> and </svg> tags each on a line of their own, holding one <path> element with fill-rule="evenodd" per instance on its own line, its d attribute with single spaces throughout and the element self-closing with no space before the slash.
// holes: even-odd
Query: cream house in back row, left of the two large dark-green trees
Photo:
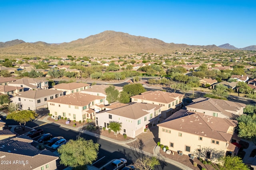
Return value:
<svg viewBox="0 0 256 170">
<path fill-rule="evenodd" d="M 85 90 L 88 88 L 90 88 L 90 84 L 71 82 L 71 83 L 57 84 L 53 86 L 51 90 L 60 90 L 60 91 L 64 91 L 65 94 L 71 94 L 75 92 L 81 92 L 82 90 Z"/>
</svg>

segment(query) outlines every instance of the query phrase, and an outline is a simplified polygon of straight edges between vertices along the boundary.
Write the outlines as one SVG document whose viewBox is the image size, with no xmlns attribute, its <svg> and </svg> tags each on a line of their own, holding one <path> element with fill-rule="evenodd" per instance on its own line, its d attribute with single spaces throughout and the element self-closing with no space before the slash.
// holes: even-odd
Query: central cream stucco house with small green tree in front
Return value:
<svg viewBox="0 0 256 170">
<path fill-rule="evenodd" d="M 122 123 L 120 133 L 134 138 L 143 133 L 149 123 L 158 123 L 161 109 L 162 106 L 155 104 L 130 103 L 128 106 L 96 113 L 96 126 L 108 129 L 110 121 L 118 121 Z"/>
</svg>

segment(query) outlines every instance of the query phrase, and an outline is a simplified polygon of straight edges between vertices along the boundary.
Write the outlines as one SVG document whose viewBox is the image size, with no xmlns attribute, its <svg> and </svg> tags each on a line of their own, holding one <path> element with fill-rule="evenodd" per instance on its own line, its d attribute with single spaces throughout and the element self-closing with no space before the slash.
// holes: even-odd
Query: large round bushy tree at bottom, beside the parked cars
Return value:
<svg viewBox="0 0 256 170">
<path fill-rule="evenodd" d="M 92 140 L 85 140 L 82 137 L 60 146 L 60 164 L 71 166 L 73 168 L 92 164 L 98 157 L 99 144 Z"/>
</svg>

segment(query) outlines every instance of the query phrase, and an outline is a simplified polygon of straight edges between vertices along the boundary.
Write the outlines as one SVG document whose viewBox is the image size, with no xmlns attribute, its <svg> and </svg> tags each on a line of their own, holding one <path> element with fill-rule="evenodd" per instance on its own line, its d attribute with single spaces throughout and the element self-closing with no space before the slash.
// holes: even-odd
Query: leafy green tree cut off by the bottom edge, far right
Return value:
<svg viewBox="0 0 256 170">
<path fill-rule="evenodd" d="M 223 166 L 220 170 L 250 170 L 250 168 L 243 163 L 242 158 L 238 156 L 225 156 L 220 158 Z"/>
</svg>

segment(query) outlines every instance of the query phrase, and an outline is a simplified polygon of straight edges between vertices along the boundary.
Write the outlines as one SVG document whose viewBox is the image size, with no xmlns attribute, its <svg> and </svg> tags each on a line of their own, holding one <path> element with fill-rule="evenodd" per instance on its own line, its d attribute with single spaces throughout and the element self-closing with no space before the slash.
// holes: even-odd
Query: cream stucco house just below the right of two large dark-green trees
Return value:
<svg viewBox="0 0 256 170">
<path fill-rule="evenodd" d="M 132 102 L 156 104 L 162 107 L 161 117 L 169 117 L 172 113 L 181 109 L 183 94 L 157 91 L 148 91 L 140 95 L 132 96 Z"/>
</svg>

